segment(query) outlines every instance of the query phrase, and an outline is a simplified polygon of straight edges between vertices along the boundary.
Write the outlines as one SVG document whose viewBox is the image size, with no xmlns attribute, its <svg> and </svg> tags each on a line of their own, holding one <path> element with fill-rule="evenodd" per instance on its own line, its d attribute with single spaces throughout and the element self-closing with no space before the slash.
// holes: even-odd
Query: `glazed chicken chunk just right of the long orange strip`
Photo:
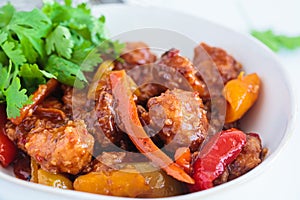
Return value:
<svg viewBox="0 0 300 200">
<path fill-rule="evenodd" d="M 197 151 L 207 136 L 208 122 L 202 100 L 196 92 L 167 90 L 148 101 L 150 125 L 158 131 L 165 148 Z"/>
</svg>

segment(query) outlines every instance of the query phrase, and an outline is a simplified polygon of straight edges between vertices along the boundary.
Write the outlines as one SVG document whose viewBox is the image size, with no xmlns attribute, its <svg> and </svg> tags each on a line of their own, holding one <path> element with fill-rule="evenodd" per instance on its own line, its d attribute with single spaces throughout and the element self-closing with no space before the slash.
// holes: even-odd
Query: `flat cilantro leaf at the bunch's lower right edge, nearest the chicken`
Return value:
<svg viewBox="0 0 300 200">
<path fill-rule="evenodd" d="M 45 70 L 57 77 L 61 83 L 83 88 L 87 80 L 80 66 L 56 55 L 50 56 Z"/>
</svg>

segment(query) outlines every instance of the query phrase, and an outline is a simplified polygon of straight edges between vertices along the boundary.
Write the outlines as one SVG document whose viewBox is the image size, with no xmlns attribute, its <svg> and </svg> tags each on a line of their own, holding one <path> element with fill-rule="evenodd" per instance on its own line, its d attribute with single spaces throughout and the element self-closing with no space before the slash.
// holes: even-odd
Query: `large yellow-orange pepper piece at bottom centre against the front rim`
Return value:
<svg viewBox="0 0 300 200">
<path fill-rule="evenodd" d="M 74 189 L 96 194 L 144 198 L 169 197 L 186 191 L 182 182 L 150 163 L 121 163 L 117 168 L 120 169 L 79 176 L 74 182 Z"/>
</svg>

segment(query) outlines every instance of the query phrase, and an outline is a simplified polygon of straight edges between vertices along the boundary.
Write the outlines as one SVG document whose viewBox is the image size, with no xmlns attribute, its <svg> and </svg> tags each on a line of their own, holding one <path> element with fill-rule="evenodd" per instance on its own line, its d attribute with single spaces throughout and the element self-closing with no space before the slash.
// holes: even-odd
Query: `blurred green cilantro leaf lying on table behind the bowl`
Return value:
<svg viewBox="0 0 300 200">
<path fill-rule="evenodd" d="M 285 35 L 277 35 L 272 30 L 256 31 L 252 30 L 251 35 L 267 45 L 274 52 L 280 49 L 296 49 L 300 48 L 300 36 L 289 37 Z"/>
</svg>

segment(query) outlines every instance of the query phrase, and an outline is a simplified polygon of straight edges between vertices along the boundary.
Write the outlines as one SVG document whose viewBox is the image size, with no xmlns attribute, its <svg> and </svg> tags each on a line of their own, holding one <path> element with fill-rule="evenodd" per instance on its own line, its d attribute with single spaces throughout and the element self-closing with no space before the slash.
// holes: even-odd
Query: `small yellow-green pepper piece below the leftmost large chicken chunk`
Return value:
<svg viewBox="0 0 300 200">
<path fill-rule="evenodd" d="M 70 190 L 73 189 L 72 182 L 64 175 L 53 174 L 43 169 L 39 169 L 37 174 L 38 174 L 38 183 L 40 184 L 61 188 L 61 189 L 70 189 Z"/>
</svg>

